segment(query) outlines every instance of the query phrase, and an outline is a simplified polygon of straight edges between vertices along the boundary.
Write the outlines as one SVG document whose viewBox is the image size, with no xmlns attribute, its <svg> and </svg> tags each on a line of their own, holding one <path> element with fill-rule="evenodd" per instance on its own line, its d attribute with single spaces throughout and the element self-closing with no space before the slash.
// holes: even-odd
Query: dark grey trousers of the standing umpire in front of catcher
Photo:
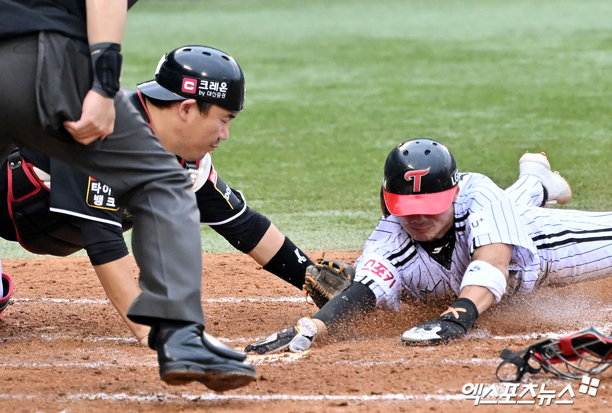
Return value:
<svg viewBox="0 0 612 413">
<path fill-rule="evenodd" d="M 87 146 L 73 141 L 62 121 L 80 119 L 89 89 L 85 42 L 43 32 L 0 40 L 0 153 L 29 147 L 110 185 L 134 214 L 132 248 L 143 293 L 130 319 L 204 324 L 199 211 L 187 171 L 122 92 L 114 98 L 114 132 Z"/>
</svg>

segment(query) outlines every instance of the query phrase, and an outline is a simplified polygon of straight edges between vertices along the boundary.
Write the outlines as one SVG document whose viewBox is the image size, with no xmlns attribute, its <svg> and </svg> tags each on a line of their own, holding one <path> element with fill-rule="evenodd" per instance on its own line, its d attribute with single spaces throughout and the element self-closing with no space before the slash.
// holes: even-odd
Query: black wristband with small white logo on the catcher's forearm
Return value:
<svg viewBox="0 0 612 413">
<path fill-rule="evenodd" d="M 306 268 L 315 265 L 302 250 L 285 237 L 285 242 L 263 269 L 302 290 Z"/>
</svg>

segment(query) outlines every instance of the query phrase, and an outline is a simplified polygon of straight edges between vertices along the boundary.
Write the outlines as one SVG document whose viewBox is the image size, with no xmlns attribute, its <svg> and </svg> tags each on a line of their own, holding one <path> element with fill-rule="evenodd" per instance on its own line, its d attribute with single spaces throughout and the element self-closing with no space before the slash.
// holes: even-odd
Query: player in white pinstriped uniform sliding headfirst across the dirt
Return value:
<svg viewBox="0 0 612 413">
<path fill-rule="evenodd" d="M 398 144 L 384 165 L 383 217 L 354 264 L 353 283 L 310 318 L 246 350 L 301 351 L 348 316 L 398 310 L 403 297 L 430 302 L 454 294 L 438 318 L 401 335 L 408 345 L 447 343 L 507 294 L 607 277 L 612 212 L 546 208 L 569 202 L 572 190 L 543 153 L 525 153 L 519 170 L 503 191 L 485 175 L 458 172 L 440 142 Z"/>
</svg>

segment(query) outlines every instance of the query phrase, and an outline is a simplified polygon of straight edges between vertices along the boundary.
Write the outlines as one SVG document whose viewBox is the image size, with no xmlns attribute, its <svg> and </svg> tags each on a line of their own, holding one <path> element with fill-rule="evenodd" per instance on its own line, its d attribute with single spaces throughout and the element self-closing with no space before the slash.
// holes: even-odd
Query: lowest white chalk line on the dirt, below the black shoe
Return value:
<svg viewBox="0 0 612 413">
<path fill-rule="evenodd" d="M 34 395 L 15 395 L 0 393 L 0 399 L 32 400 Z M 38 397 L 40 398 L 40 396 Z M 130 395 L 127 393 L 76 393 L 58 397 L 58 400 L 105 400 L 105 401 L 132 401 L 137 403 L 176 403 L 184 401 L 450 401 L 465 400 L 465 395 L 453 393 L 436 394 L 404 394 L 386 393 L 381 395 L 225 395 L 219 393 L 190 394 L 181 393 L 174 395 L 170 393 L 151 393 L 144 395 Z"/>
</svg>

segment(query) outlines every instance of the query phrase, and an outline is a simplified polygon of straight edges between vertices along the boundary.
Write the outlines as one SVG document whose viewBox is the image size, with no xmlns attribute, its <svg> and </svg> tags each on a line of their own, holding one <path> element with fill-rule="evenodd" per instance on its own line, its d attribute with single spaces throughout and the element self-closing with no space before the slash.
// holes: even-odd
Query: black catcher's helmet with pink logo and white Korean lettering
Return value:
<svg viewBox="0 0 612 413">
<path fill-rule="evenodd" d="M 182 46 L 166 53 L 155 79 L 138 84 L 147 97 L 159 100 L 195 99 L 242 112 L 244 75 L 229 54 L 207 46 Z"/>
</svg>

